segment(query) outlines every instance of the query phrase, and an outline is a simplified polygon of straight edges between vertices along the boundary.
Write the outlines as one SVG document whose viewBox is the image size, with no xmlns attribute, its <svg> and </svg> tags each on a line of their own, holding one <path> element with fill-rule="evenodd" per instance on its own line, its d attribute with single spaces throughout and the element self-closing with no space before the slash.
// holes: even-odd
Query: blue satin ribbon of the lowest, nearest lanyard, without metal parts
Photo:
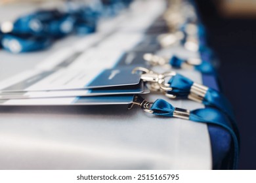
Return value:
<svg viewBox="0 0 256 183">
<path fill-rule="evenodd" d="M 153 114 L 159 116 L 173 117 L 175 107 L 173 107 L 170 103 L 167 103 L 167 101 L 158 99 L 153 103 L 150 110 L 153 110 Z M 222 127 L 224 130 L 228 131 L 228 133 L 230 133 L 233 141 L 230 169 L 236 169 L 238 166 L 238 154 L 240 151 L 238 141 L 239 137 L 236 135 L 236 133 L 234 133 L 234 129 L 232 127 L 232 124 L 230 124 L 229 119 L 226 118 L 226 116 L 217 108 L 206 107 L 191 110 L 189 120 L 193 122 L 218 125 L 219 127 Z M 223 144 L 223 146 L 225 146 L 225 144 Z"/>
</svg>

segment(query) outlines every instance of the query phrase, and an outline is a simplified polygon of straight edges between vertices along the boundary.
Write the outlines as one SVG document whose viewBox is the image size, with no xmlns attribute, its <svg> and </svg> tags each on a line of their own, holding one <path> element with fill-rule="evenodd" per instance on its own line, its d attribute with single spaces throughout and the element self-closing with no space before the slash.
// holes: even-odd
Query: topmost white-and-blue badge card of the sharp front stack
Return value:
<svg viewBox="0 0 256 183">
<path fill-rule="evenodd" d="M 132 73 L 134 67 L 114 69 L 58 69 L 54 71 L 26 72 L 16 79 L 1 82 L 1 93 L 49 90 L 81 90 L 119 86 L 138 86 L 140 75 Z M 20 79 L 18 79 L 20 78 Z"/>
</svg>

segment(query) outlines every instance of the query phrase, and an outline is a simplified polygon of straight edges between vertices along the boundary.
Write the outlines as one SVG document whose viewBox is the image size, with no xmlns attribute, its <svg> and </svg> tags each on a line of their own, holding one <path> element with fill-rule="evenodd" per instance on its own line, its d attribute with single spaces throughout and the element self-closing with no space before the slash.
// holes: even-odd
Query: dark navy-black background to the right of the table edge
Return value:
<svg viewBox="0 0 256 183">
<path fill-rule="evenodd" d="M 241 133 L 239 169 L 256 169 L 256 17 L 223 18 L 211 1 L 196 0 L 196 5 L 220 60 L 223 93 L 236 113 Z"/>
</svg>

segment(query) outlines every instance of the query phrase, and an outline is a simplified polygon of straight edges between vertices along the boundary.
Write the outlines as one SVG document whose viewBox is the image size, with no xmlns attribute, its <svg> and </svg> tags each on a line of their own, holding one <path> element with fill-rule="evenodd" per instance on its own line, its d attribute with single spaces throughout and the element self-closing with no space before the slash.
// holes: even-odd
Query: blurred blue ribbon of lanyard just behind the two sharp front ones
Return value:
<svg viewBox="0 0 256 183">
<path fill-rule="evenodd" d="M 177 56 L 173 56 L 169 60 L 169 64 L 177 69 L 181 69 L 182 63 L 186 63 L 186 60 L 178 58 Z M 200 71 L 203 74 L 215 74 L 215 69 L 213 68 L 213 65 L 204 60 L 202 60 L 202 63 L 200 63 L 200 65 L 194 65 L 194 69 Z"/>
</svg>

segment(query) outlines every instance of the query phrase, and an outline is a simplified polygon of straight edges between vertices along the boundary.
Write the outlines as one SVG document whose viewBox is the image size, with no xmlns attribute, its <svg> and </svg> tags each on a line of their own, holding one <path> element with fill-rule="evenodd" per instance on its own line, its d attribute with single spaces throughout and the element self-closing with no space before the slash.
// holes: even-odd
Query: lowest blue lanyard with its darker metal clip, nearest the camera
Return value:
<svg viewBox="0 0 256 183">
<path fill-rule="evenodd" d="M 135 95 L 133 103 L 129 105 L 129 109 L 133 105 L 139 105 L 144 111 L 158 116 L 175 117 L 185 120 L 191 120 L 193 122 L 200 122 L 204 124 L 218 125 L 228 131 L 232 137 L 233 149 L 232 149 L 232 165 L 230 169 L 236 169 L 238 165 L 238 154 L 239 154 L 239 142 L 236 133 L 232 129 L 232 125 L 226 116 L 219 111 L 217 108 L 207 107 L 196 110 L 186 110 L 183 108 L 175 108 L 173 105 L 158 99 L 154 103 L 149 103 L 140 95 Z"/>
</svg>

